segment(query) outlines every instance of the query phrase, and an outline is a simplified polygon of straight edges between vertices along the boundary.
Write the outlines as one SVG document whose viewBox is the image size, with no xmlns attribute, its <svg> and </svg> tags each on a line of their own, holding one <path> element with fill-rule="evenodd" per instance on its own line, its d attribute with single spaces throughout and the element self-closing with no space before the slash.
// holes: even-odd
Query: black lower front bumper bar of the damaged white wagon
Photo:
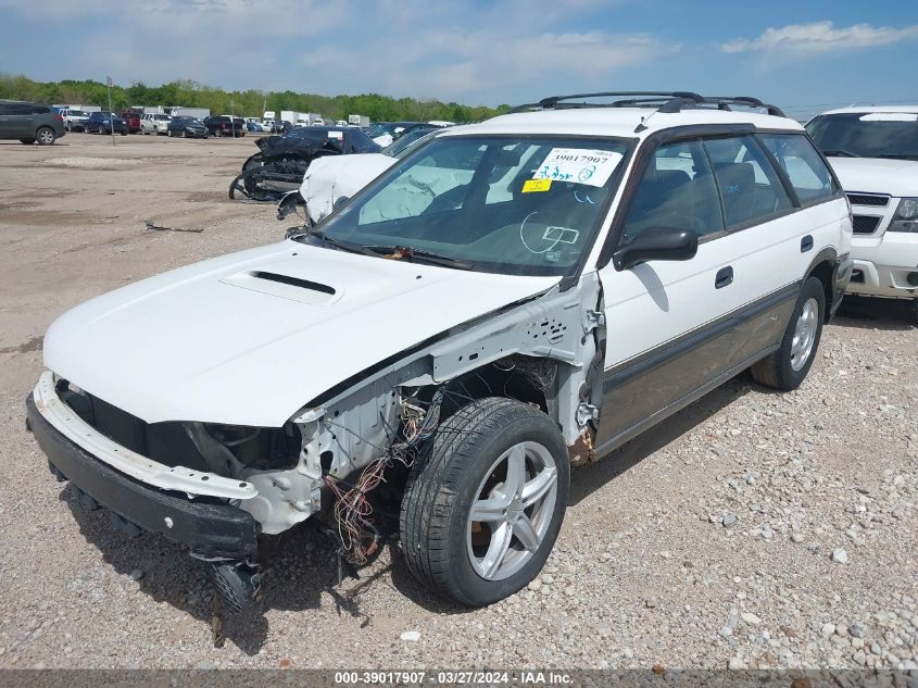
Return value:
<svg viewBox="0 0 918 688">
<path fill-rule="evenodd" d="M 120 520 L 185 545 L 201 559 L 241 560 L 255 554 L 259 528 L 252 514 L 214 498 L 189 500 L 143 485 L 65 437 L 41 415 L 32 395 L 26 408 L 28 427 L 52 473 L 78 488 L 80 498 L 86 495 Z"/>
</svg>

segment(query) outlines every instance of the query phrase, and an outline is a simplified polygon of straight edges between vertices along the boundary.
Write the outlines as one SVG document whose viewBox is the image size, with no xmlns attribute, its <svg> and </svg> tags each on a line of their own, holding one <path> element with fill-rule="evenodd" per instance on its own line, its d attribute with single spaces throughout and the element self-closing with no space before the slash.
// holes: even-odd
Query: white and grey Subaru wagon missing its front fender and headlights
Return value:
<svg viewBox="0 0 918 688">
<path fill-rule="evenodd" d="M 28 423 L 79 501 L 186 546 L 232 610 L 261 539 L 314 517 L 352 564 L 398 536 L 419 580 L 488 604 L 545 562 L 570 466 L 746 368 L 797 387 L 850 245 L 777 108 L 549 98 L 315 228 L 65 313 Z"/>
</svg>

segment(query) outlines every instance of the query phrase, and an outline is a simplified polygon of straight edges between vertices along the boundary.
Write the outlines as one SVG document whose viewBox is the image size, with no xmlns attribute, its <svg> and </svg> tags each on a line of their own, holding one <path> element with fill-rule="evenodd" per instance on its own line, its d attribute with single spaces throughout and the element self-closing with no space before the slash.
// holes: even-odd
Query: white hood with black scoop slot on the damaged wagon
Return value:
<svg viewBox="0 0 918 688">
<path fill-rule="evenodd" d="M 288 240 L 87 301 L 51 325 L 45 364 L 148 423 L 279 427 L 338 383 L 558 279 Z"/>
</svg>

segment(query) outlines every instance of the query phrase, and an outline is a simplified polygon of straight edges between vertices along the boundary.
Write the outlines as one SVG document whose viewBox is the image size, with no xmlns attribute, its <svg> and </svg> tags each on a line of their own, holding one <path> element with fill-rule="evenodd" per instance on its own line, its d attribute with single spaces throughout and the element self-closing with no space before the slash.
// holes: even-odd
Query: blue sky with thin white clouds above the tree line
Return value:
<svg viewBox="0 0 918 688">
<path fill-rule="evenodd" d="M 0 0 L 0 71 L 39 80 L 491 105 L 674 89 L 803 116 L 916 102 L 916 66 L 915 0 Z"/>
</svg>

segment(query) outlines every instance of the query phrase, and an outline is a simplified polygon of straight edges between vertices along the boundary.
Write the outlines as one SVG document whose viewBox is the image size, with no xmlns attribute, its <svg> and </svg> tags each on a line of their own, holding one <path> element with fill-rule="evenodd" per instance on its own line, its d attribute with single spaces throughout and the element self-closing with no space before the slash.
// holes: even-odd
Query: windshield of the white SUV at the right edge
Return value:
<svg viewBox="0 0 918 688">
<path fill-rule="evenodd" d="M 918 160 L 918 113 L 819 115 L 806 130 L 827 155 Z"/>
</svg>

